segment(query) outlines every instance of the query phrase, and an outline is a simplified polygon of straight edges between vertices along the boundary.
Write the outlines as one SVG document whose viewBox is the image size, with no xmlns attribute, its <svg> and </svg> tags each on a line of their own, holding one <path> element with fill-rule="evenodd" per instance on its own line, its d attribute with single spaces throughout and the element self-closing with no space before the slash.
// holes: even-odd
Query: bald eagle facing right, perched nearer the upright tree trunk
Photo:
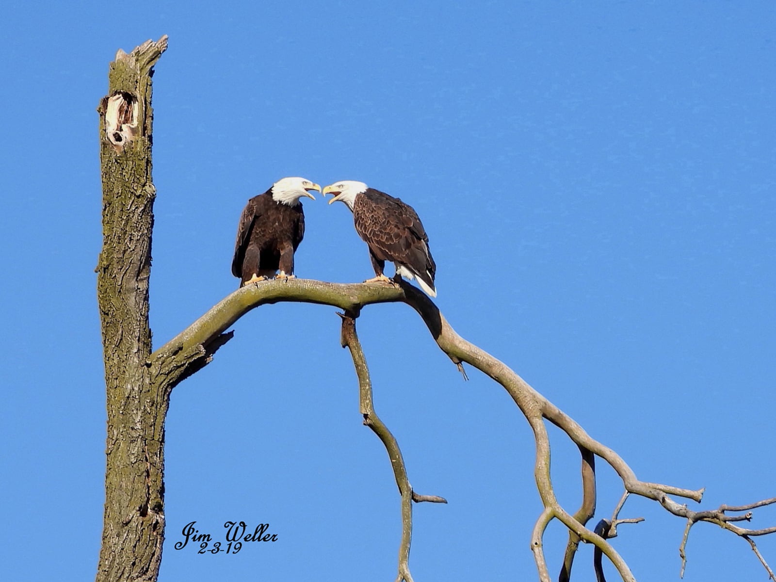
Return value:
<svg viewBox="0 0 776 582">
<path fill-rule="evenodd" d="M 232 275 L 241 286 L 293 278 L 293 254 L 304 237 L 304 212 L 300 198 L 315 199 L 310 190 L 320 186 L 304 178 L 282 178 L 263 194 L 248 200 L 237 226 Z"/>
</svg>

